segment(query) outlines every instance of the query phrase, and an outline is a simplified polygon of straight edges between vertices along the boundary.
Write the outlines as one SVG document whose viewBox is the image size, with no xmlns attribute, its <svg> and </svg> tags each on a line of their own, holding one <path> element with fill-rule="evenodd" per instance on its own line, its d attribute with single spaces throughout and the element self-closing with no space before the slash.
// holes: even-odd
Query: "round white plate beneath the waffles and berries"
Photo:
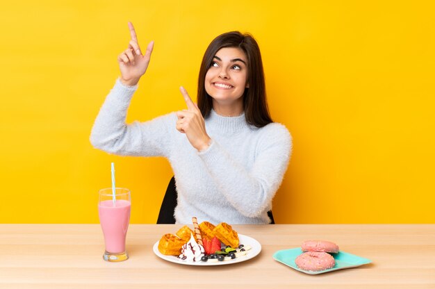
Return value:
<svg viewBox="0 0 435 289">
<path fill-rule="evenodd" d="M 231 259 L 229 261 L 217 261 L 217 262 L 197 261 L 197 262 L 193 262 L 193 261 L 181 260 L 180 258 L 177 258 L 176 256 L 163 255 L 163 254 L 161 254 L 160 251 L 158 251 L 158 241 L 156 242 L 156 244 L 154 244 L 153 251 L 154 251 L 154 254 L 156 254 L 158 257 L 162 258 L 163 260 L 170 261 L 172 263 L 178 263 L 178 264 L 183 264 L 183 265 L 194 265 L 194 266 L 229 265 L 229 264 L 247 261 L 249 259 L 254 258 L 258 254 L 260 254 L 261 244 L 257 240 L 255 240 L 254 238 L 251 238 L 249 236 L 245 236 L 242 234 L 238 234 L 238 240 L 239 240 L 240 244 L 243 244 L 245 246 L 249 245 L 252 247 L 252 249 L 247 251 L 247 254 L 245 256 L 240 256 L 238 258 Z"/>
</svg>

